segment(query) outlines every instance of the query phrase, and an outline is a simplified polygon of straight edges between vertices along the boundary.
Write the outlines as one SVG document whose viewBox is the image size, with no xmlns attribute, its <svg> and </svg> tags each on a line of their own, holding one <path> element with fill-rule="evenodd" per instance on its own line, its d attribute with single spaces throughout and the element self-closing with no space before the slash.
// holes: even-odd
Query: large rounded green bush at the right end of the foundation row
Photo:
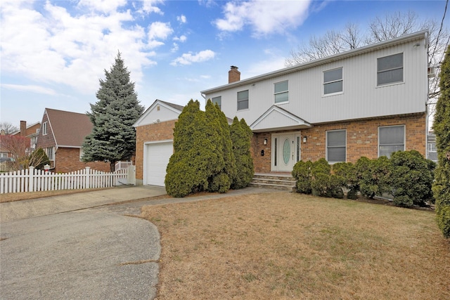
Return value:
<svg viewBox="0 0 450 300">
<path fill-rule="evenodd" d="M 390 158 L 390 193 L 394 204 L 402 207 L 432 203 L 432 182 L 435 163 L 416 150 L 397 151 Z"/>
</svg>

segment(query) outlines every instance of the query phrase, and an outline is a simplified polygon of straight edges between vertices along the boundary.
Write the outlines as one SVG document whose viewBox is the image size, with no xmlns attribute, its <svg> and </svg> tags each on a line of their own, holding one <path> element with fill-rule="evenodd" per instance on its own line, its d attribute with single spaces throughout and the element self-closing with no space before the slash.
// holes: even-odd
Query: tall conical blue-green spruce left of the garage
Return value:
<svg viewBox="0 0 450 300">
<path fill-rule="evenodd" d="M 82 159 L 84 162 L 110 162 L 110 169 L 114 171 L 115 162 L 131 159 L 135 154 L 133 124 L 144 110 L 120 52 L 110 71 L 105 70 L 105 80 L 100 79 L 96 97 L 98 101 L 91 104 L 91 112 L 87 112 L 94 128 L 84 140 Z"/>
</svg>

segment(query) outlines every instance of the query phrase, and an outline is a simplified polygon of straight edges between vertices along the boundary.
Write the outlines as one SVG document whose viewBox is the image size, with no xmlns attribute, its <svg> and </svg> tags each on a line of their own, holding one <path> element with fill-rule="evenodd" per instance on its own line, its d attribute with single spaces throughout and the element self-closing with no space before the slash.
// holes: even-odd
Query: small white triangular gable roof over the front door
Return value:
<svg viewBox="0 0 450 300">
<path fill-rule="evenodd" d="M 269 130 L 291 130 L 312 127 L 304 119 L 297 117 L 288 110 L 272 105 L 255 122 L 250 125 L 254 132 Z"/>
</svg>

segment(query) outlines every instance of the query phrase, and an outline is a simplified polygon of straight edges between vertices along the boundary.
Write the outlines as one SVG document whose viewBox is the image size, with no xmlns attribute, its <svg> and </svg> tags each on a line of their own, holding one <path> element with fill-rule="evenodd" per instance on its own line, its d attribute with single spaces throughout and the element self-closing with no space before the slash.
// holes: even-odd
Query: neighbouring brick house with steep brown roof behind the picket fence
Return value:
<svg viewBox="0 0 450 300">
<path fill-rule="evenodd" d="M 46 108 L 37 138 L 37 148 L 42 148 L 51 161 L 51 170 L 67 173 L 91 167 L 110 171 L 108 162 L 82 162 L 84 138 L 93 128 L 87 115 Z"/>
</svg>

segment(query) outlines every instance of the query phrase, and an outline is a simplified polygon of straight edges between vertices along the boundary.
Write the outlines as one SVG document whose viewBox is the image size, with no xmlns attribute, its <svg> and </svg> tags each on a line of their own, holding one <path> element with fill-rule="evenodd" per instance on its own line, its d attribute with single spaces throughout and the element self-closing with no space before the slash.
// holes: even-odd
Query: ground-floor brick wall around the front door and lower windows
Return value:
<svg viewBox="0 0 450 300">
<path fill-rule="evenodd" d="M 302 129 L 301 134 L 307 136 L 307 143 L 301 144 L 301 159 L 316 161 L 326 157 L 326 131 L 335 129 L 347 130 L 347 162 L 356 162 L 361 156 L 369 159 L 378 157 L 378 127 L 405 125 L 405 150 L 418 150 L 426 157 L 426 115 L 395 116 L 390 118 L 361 119 L 347 122 L 317 124 L 309 129 Z M 287 131 L 288 132 L 288 131 Z M 255 172 L 271 171 L 271 134 L 255 133 L 252 137 L 252 157 Z M 267 145 L 264 145 L 267 139 Z M 264 156 L 261 155 L 264 150 Z"/>
</svg>

